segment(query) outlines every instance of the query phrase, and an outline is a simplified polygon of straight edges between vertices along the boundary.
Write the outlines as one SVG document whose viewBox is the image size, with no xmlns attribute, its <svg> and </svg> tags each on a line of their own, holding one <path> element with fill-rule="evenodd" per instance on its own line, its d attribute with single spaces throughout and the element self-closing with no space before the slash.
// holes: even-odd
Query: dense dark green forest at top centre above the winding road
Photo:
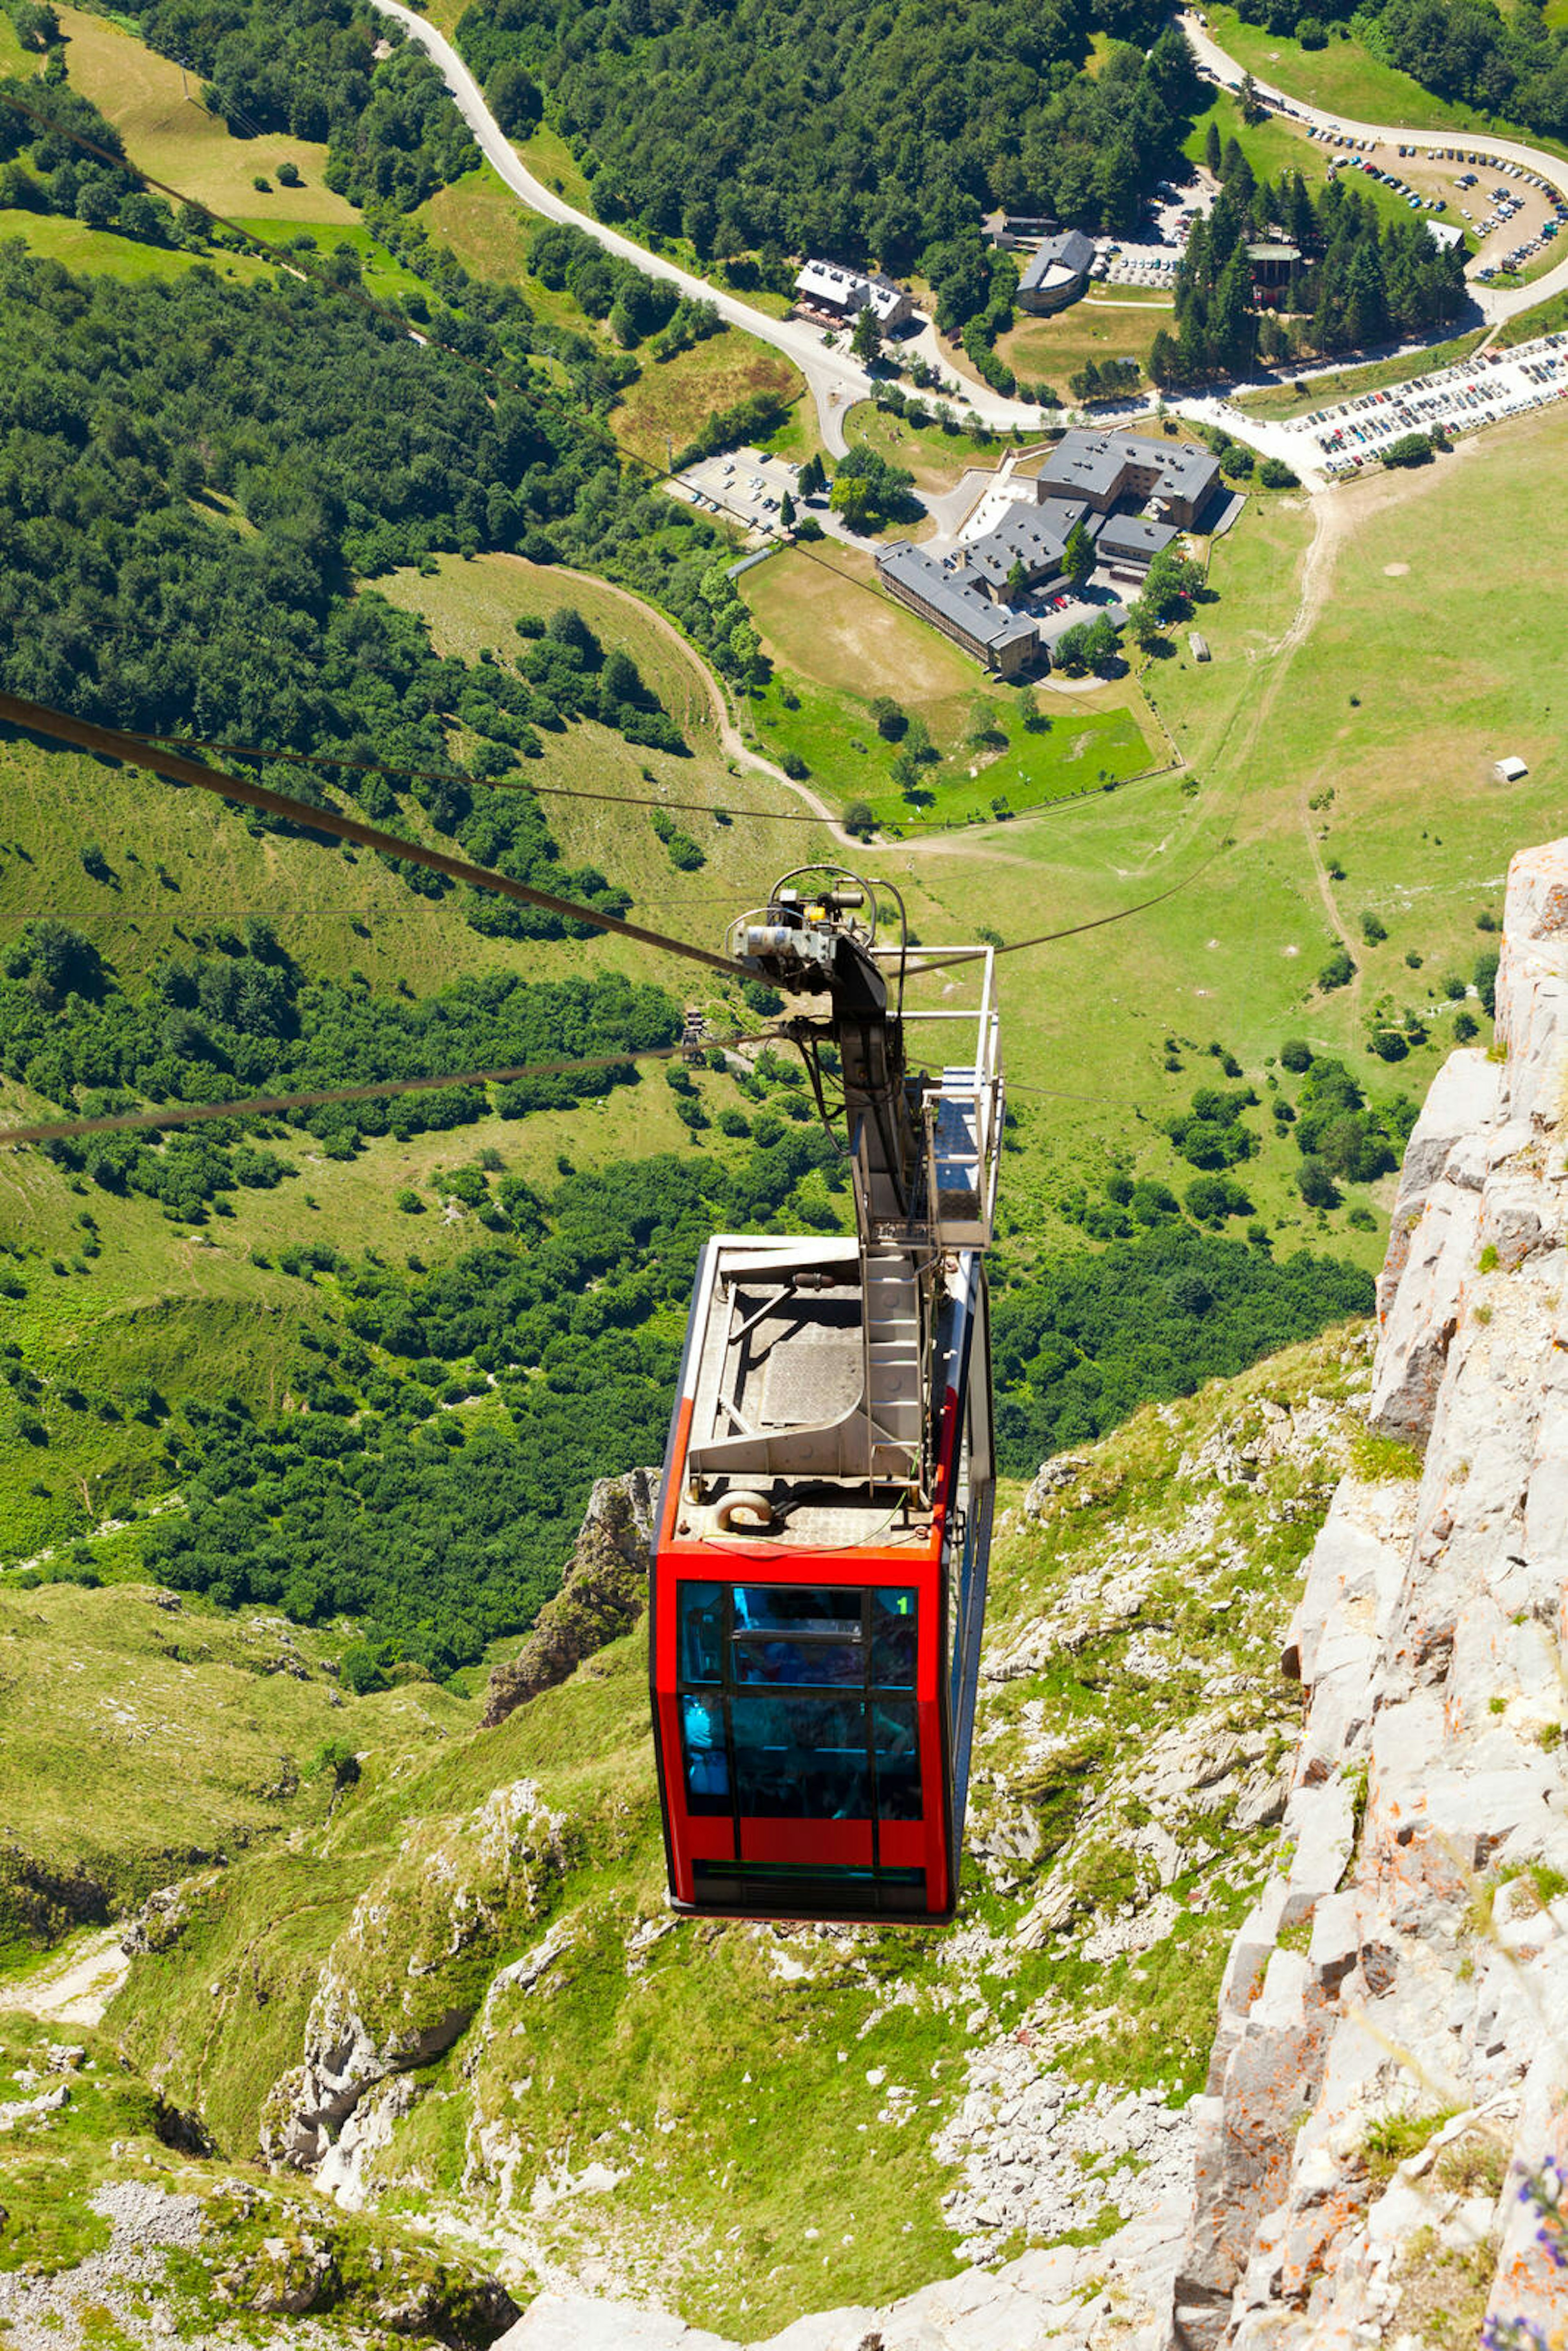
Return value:
<svg viewBox="0 0 1568 2351">
<path fill-rule="evenodd" d="M 1112 47 L 1088 73 L 1093 33 Z M 1194 99 L 1185 42 L 1143 0 L 475 0 L 456 38 L 482 80 L 538 80 L 602 219 L 701 256 L 919 261 L 938 287 L 978 280 L 964 317 L 985 209 L 1131 226 Z"/>
</svg>

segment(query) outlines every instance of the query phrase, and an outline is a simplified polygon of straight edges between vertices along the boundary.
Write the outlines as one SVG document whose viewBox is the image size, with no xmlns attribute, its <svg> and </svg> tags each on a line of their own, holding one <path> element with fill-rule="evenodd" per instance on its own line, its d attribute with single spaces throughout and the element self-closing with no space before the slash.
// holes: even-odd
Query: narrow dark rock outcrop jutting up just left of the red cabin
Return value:
<svg viewBox="0 0 1568 2351">
<path fill-rule="evenodd" d="M 489 1676 L 484 1730 L 632 1629 L 646 1606 L 656 1498 L 658 1469 L 628 1469 L 597 1481 L 562 1589 L 538 1610 L 522 1650 Z"/>
</svg>

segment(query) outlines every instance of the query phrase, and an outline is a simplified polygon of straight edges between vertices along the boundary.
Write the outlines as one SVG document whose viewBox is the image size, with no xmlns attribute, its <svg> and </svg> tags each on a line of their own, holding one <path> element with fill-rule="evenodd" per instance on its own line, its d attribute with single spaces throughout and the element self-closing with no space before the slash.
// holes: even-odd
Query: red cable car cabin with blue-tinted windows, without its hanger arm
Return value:
<svg viewBox="0 0 1568 2351">
<path fill-rule="evenodd" d="M 651 1601 L 682 1911 L 940 1923 L 957 1904 L 992 1519 L 980 1253 L 931 1333 L 926 1502 L 827 1467 L 863 1357 L 856 1241 L 708 1244 Z M 743 1429 L 816 1465 L 759 1476 L 733 1460 L 762 1451 Z"/>
</svg>

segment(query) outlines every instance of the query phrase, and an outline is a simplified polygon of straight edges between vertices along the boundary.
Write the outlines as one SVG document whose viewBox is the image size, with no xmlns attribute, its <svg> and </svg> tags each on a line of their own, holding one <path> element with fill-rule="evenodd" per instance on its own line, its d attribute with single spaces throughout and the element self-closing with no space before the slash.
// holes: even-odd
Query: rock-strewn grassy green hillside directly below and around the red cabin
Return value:
<svg viewBox="0 0 1568 2351">
<path fill-rule="evenodd" d="M 360 1784 L 329 1824 L 193 1886 L 115 2001 L 122 2048 L 242 2165 L 296 2144 L 296 2069 L 357 2020 L 369 2109 L 395 2116 L 357 2177 L 437 2243 L 461 2231 L 494 2255 L 520 2299 L 564 2269 L 752 2337 L 952 2271 L 954 2170 L 931 2142 L 971 2055 L 1027 2029 L 1079 2095 L 1201 2088 L 1225 1942 L 1274 1838 L 1229 1808 L 1293 1721 L 1272 1648 L 1354 1441 L 1361 1364 L 1328 1338 L 1145 1411 L 1039 1523 L 1006 1523 L 987 1646 L 1013 1662 L 983 1681 L 985 1860 L 952 1935 L 670 1921 L 635 1634 L 435 1751 L 362 1740 L 381 1702 L 355 1702 Z M 1192 1505 L 1215 1493 L 1204 1448 L 1227 1444 L 1258 1444 L 1260 1472 L 1218 1488 L 1215 1523 Z M 1091 1627 L 1084 1594 L 1112 1559 L 1138 1599 Z M 1135 1791 L 1194 1716 L 1248 1761 L 1161 1808 L 1175 1843 L 1147 1848 Z M 1032 1935 L 1041 1897 L 1053 1925 Z M 1133 1956 L 1093 1963 L 1081 1944 L 1112 1916 L 1147 1923 Z M 1112 2222 L 1086 2177 L 1084 2224 Z"/>
</svg>

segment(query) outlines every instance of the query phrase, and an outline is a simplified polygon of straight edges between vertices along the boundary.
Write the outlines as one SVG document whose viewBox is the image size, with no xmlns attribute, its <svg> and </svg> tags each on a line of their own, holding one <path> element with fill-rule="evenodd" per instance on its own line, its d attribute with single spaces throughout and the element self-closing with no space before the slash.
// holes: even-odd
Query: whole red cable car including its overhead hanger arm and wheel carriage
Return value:
<svg viewBox="0 0 1568 2351">
<path fill-rule="evenodd" d="M 872 891 L 792 879 L 731 952 L 827 997 L 788 1034 L 830 1131 L 842 1110 L 858 1237 L 719 1237 L 698 1265 L 651 1589 L 670 1897 L 689 1914 L 940 1923 L 959 1893 L 992 1521 L 992 957 L 950 950 L 978 971 L 978 1004 L 905 1013 L 922 964 L 903 940 L 877 945 Z M 964 1023 L 971 1056 L 905 1074 L 910 1020 Z"/>
</svg>

